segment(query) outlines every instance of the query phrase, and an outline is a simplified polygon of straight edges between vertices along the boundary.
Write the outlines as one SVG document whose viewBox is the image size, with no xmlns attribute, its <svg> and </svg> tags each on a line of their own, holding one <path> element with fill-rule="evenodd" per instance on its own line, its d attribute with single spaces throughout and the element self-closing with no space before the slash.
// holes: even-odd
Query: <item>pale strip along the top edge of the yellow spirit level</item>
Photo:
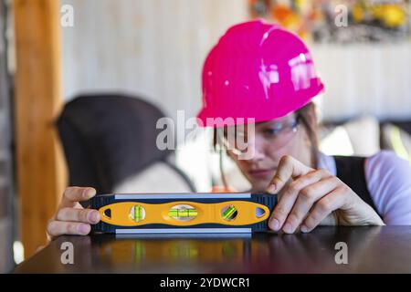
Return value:
<svg viewBox="0 0 411 292">
<path fill-rule="evenodd" d="M 251 193 L 134 193 L 115 194 L 116 200 L 141 200 L 141 199 L 248 199 Z"/>
</svg>

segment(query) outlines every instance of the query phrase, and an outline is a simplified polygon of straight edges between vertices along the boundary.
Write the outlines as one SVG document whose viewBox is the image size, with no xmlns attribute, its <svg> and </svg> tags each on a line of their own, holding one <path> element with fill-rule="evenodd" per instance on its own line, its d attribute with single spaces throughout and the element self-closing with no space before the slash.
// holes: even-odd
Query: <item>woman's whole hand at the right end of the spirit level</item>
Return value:
<svg viewBox="0 0 411 292">
<path fill-rule="evenodd" d="M 269 228 L 291 234 L 318 224 L 384 225 L 374 209 L 330 172 L 312 169 L 291 156 L 282 157 L 268 187 L 279 193 Z"/>
</svg>

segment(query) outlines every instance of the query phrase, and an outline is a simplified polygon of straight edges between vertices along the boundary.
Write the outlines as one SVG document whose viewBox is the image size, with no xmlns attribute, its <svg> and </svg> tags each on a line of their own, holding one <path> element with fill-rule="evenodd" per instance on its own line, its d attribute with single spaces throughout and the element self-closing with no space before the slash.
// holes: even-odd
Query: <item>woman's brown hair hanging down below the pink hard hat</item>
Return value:
<svg viewBox="0 0 411 292">
<path fill-rule="evenodd" d="M 307 131 L 307 136 L 310 140 L 311 144 L 311 164 L 314 167 L 318 165 L 318 136 L 317 136 L 317 120 L 315 115 L 315 105 L 310 102 L 304 107 L 296 110 L 295 113 L 297 114 L 298 119 L 300 119 L 301 124 L 304 126 L 305 130 Z M 237 132 L 237 131 L 235 131 Z M 224 184 L 224 187 L 227 188 L 227 178 L 224 173 L 223 167 L 223 151 L 224 149 L 220 148 L 217 149 L 217 131 L 214 130 L 214 137 L 213 137 L 213 147 L 216 151 L 219 151 L 220 158 L 219 158 L 219 168 L 220 168 L 220 175 L 221 180 Z"/>
</svg>

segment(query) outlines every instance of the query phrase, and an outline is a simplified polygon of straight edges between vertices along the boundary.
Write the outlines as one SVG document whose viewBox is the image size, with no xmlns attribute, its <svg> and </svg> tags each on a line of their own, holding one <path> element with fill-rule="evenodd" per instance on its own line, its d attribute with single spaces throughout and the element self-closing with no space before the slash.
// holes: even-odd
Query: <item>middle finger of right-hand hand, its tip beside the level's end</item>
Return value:
<svg viewBox="0 0 411 292">
<path fill-rule="evenodd" d="M 291 182 L 279 196 L 279 203 L 271 214 L 269 227 L 274 231 L 281 229 L 286 219 L 289 217 L 290 211 L 296 203 L 300 191 L 312 183 L 319 182 L 321 178 L 328 175 L 329 173 L 323 170 L 311 171 Z M 286 232 L 293 229 L 293 221 L 295 221 L 295 219 L 291 217 L 289 224 L 284 225 L 284 228 L 287 230 Z"/>
</svg>

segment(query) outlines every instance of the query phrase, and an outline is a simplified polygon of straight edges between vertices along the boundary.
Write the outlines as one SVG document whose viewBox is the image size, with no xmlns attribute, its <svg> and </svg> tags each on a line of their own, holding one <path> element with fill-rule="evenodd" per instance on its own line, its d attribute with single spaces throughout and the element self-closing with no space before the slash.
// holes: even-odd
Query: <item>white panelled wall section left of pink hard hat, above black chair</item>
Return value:
<svg viewBox="0 0 411 292">
<path fill-rule="evenodd" d="M 63 29 L 64 96 L 132 92 L 175 117 L 195 115 L 209 48 L 247 19 L 247 0 L 62 0 L 74 8 Z"/>
</svg>

